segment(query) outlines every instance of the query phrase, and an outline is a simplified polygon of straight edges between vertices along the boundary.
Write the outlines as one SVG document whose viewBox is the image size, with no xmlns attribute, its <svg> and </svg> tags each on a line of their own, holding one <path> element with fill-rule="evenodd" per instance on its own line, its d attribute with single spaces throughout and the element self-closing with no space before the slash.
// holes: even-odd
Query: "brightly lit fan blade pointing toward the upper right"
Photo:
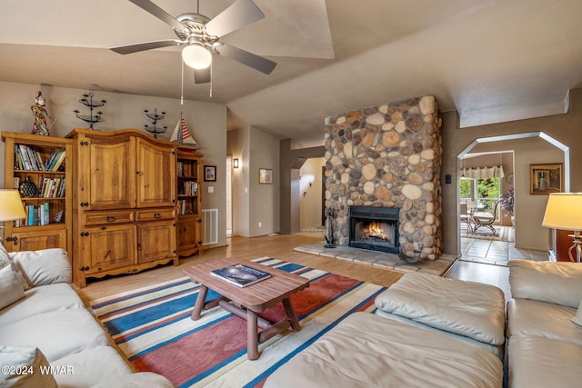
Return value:
<svg viewBox="0 0 582 388">
<path fill-rule="evenodd" d="M 226 10 L 206 23 L 206 33 L 218 37 L 224 36 L 264 17 L 265 14 L 252 0 L 236 0 L 235 4 L 230 5 Z"/>
</svg>

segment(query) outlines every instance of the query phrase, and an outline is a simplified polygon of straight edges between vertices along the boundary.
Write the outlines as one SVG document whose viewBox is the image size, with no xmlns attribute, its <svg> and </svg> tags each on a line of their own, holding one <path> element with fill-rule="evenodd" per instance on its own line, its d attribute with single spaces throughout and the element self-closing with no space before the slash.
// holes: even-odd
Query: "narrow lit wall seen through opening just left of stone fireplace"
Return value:
<svg viewBox="0 0 582 388">
<path fill-rule="evenodd" d="M 326 158 L 307 159 L 299 169 L 300 225 L 301 230 L 322 226 L 322 174 L 321 168 L 326 165 Z"/>
</svg>

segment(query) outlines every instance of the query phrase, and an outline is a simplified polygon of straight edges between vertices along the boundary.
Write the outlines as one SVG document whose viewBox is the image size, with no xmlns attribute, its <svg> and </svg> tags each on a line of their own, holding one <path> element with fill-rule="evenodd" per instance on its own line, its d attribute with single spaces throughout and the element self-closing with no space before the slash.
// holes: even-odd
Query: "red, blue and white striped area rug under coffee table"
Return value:
<svg viewBox="0 0 582 388">
<path fill-rule="evenodd" d="M 246 359 L 246 321 L 220 307 L 190 319 L 199 284 L 187 277 L 95 300 L 91 307 L 138 371 L 160 373 L 178 387 L 261 387 L 348 314 L 373 312 L 376 295 L 386 289 L 274 258 L 253 261 L 310 279 L 309 288 L 291 298 L 301 331 L 260 343 L 256 361 Z M 210 290 L 207 299 L 215 297 Z M 275 322 L 284 314 L 279 304 L 261 316 Z"/>
</svg>

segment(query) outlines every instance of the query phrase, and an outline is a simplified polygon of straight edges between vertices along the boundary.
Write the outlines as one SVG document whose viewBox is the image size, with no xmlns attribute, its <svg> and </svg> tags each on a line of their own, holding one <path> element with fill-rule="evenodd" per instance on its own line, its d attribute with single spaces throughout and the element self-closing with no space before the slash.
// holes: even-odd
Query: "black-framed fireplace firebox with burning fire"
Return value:
<svg viewBox="0 0 582 388">
<path fill-rule="evenodd" d="M 348 245 L 397 254 L 399 214 L 397 207 L 350 206 Z"/>
</svg>

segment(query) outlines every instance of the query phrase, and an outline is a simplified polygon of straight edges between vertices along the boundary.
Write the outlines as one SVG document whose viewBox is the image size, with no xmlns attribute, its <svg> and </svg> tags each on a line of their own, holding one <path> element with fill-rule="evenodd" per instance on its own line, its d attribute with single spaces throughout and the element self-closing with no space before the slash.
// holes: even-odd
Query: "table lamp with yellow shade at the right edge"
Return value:
<svg viewBox="0 0 582 388">
<path fill-rule="evenodd" d="M 570 256 L 571 262 L 580 263 L 580 256 L 582 256 L 582 235 L 580 235 L 580 231 L 582 231 L 582 193 L 549 194 L 542 226 L 574 231 L 574 234 L 568 234 L 574 238 L 574 244 L 570 246 L 567 254 Z M 576 258 L 573 255 L 575 250 Z"/>
</svg>

